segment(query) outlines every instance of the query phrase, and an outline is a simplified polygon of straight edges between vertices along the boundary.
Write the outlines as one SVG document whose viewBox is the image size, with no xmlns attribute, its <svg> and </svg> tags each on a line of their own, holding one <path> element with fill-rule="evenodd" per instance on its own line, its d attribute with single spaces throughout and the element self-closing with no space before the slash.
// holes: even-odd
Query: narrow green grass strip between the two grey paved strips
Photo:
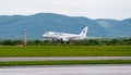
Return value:
<svg viewBox="0 0 131 75">
<path fill-rule="evenodd" d="M 131 60 L 13 61 L 13 62 L 0 62 L 0 66 L 14 66 L 14 65 L 73 65 L 73 64 L 131 64 Z"/>
</svg>

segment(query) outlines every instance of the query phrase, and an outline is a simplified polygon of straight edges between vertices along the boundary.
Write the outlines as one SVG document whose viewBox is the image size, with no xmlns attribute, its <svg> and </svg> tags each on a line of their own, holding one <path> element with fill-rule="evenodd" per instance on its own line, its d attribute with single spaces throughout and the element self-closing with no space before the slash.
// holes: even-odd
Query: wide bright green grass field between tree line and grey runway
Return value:
<svg viewBox="0 0 131 75">
<path fill-rule="evenodd" d="M 1 46 L 0 57 L 131 57 L 131 46 Z"/>
</svg>

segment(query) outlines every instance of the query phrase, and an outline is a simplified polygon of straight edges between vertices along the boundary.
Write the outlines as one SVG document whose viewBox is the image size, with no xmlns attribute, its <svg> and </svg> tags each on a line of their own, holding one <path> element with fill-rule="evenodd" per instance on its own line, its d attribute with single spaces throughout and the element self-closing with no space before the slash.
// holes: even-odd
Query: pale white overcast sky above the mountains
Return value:
<svg viewBox="0 0 131 75">
<path fill-rule="evenodd" d="M 0 15 L 36 13 L 123 20 L 131 17 L 131 0 L 0 0 Z"/>
</svg>

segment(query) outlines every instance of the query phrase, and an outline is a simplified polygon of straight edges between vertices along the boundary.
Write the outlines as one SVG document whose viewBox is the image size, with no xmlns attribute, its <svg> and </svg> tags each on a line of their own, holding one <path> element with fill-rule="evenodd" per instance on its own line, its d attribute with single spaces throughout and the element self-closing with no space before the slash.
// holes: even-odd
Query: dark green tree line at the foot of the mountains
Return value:
<svg viewBox="0 0 131 75">
<path fill-rule="evenodd" d="M 23 40 L 0 40 L 0 46 L 23 46 Z M 27 40 L 26 46 L 59 46 L 59 45 L 74 45 L 74 46 L 131 46 L 130 39 L 87 39 L 82 41 L 51 41 L 51 40 Z"/>
</svg>

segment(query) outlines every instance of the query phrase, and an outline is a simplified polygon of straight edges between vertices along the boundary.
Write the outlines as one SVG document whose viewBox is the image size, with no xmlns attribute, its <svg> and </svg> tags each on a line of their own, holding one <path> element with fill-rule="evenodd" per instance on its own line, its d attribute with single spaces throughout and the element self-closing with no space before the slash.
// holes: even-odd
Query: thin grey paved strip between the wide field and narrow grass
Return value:
<svg viewBox="0 0 131 75">
<path fill-rule="evenodd" d="M 34 57 L 0 58 L 0 61 L 84 61 L 84 60 L 131 60 L 131 57 Z"/>
</svg>

